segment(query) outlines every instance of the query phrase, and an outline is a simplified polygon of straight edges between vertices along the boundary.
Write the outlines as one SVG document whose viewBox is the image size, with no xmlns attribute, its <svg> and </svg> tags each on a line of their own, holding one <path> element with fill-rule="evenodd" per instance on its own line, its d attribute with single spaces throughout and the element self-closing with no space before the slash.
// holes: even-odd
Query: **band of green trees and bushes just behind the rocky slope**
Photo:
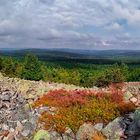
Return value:
<svg viewBox="0 0 140 140">
<path fill-rule="evenodd" d="M 9 77 L 43 80 L 84 87 L 107 86 L 112 82 L 140 81 L 140 67 L 124 63 L 92 65 L 43 62 L 33 54 L 23 59 L 0 57 L 0 71 Z"/>
</svg>

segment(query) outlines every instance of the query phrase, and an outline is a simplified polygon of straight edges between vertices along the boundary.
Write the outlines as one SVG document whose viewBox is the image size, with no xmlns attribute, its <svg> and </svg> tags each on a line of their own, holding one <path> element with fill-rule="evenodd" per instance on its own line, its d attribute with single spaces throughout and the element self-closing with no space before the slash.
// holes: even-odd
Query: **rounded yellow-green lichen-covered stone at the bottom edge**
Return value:
<svg viewBox="0 0 140 140">
<path fill-rule="evenodd" d="M 39 130 L 33 140 L 51 140 L 50 139 L 50 134 L 48 133 L 48 131 L 45 131 L 45 130 Z"/>
</svg>

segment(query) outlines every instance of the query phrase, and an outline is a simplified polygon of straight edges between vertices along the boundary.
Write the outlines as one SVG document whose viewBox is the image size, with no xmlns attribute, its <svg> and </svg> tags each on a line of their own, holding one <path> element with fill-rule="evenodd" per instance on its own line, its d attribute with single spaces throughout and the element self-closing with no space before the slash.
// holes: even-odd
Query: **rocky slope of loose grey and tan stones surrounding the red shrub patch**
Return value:
<svg viewBox="0 0 140 140">
<path fill-rule="evenodd" d="M 0 140 L 94 140 L 97 133 L 102 139 L 139 140 L 140 139 L 140 83 L 125 83 L 125 100 L 136 106 L 135 112 L 116 118 L 107 126 L 102 123 L 83 124 L 76 135 L 68 128 L 63 135 L 48 132 L 38 126 L 37 118 L 42 110 L 53 112 L 44 107 L 33 110 L 31 103 L 38 97 L 54 89 L 84 89 L 74 85 L 28 81 L 8 78 L 0 74 Z M 108 90 L 97 87 L 88 90 Z M 115 132 L 115 133 L 114 133 Z M 85 137 L 86 135 L 86 137 Z M 120 138 L 121 137 L 121 138 Z M 101 137 L 100 137 L 101 138 Z"/>
</svg>

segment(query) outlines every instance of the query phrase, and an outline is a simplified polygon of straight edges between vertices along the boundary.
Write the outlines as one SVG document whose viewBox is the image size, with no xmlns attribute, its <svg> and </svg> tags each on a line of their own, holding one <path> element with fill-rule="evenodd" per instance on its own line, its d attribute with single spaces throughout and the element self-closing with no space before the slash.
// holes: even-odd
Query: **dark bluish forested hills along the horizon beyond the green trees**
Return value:
<svg viewBox="0 0 140 140">
<path fill-rule="evenodd" d="M 23 57 L 27 53 L 37 55 L 41 60 L 98 60 L 124 61 L 140 64 L 140 50 L 80 50 L 80 49 L 0 49 L 1 56 Z"/>
</svg>

